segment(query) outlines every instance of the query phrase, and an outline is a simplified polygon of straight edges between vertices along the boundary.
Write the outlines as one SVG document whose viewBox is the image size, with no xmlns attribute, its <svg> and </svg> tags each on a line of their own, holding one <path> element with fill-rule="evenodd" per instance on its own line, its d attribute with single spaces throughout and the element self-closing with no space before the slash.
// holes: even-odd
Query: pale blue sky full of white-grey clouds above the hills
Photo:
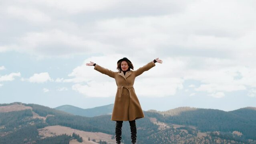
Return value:
<svg viewBox="0 0 256 144">
<path fill-rule="evenodd" d="M 256 107 L 255 0 L 1 0 L 0 103 L 113 104 L 117 71 L 163 60 L 135 80 L 143 110 Z"/>
</svg>

